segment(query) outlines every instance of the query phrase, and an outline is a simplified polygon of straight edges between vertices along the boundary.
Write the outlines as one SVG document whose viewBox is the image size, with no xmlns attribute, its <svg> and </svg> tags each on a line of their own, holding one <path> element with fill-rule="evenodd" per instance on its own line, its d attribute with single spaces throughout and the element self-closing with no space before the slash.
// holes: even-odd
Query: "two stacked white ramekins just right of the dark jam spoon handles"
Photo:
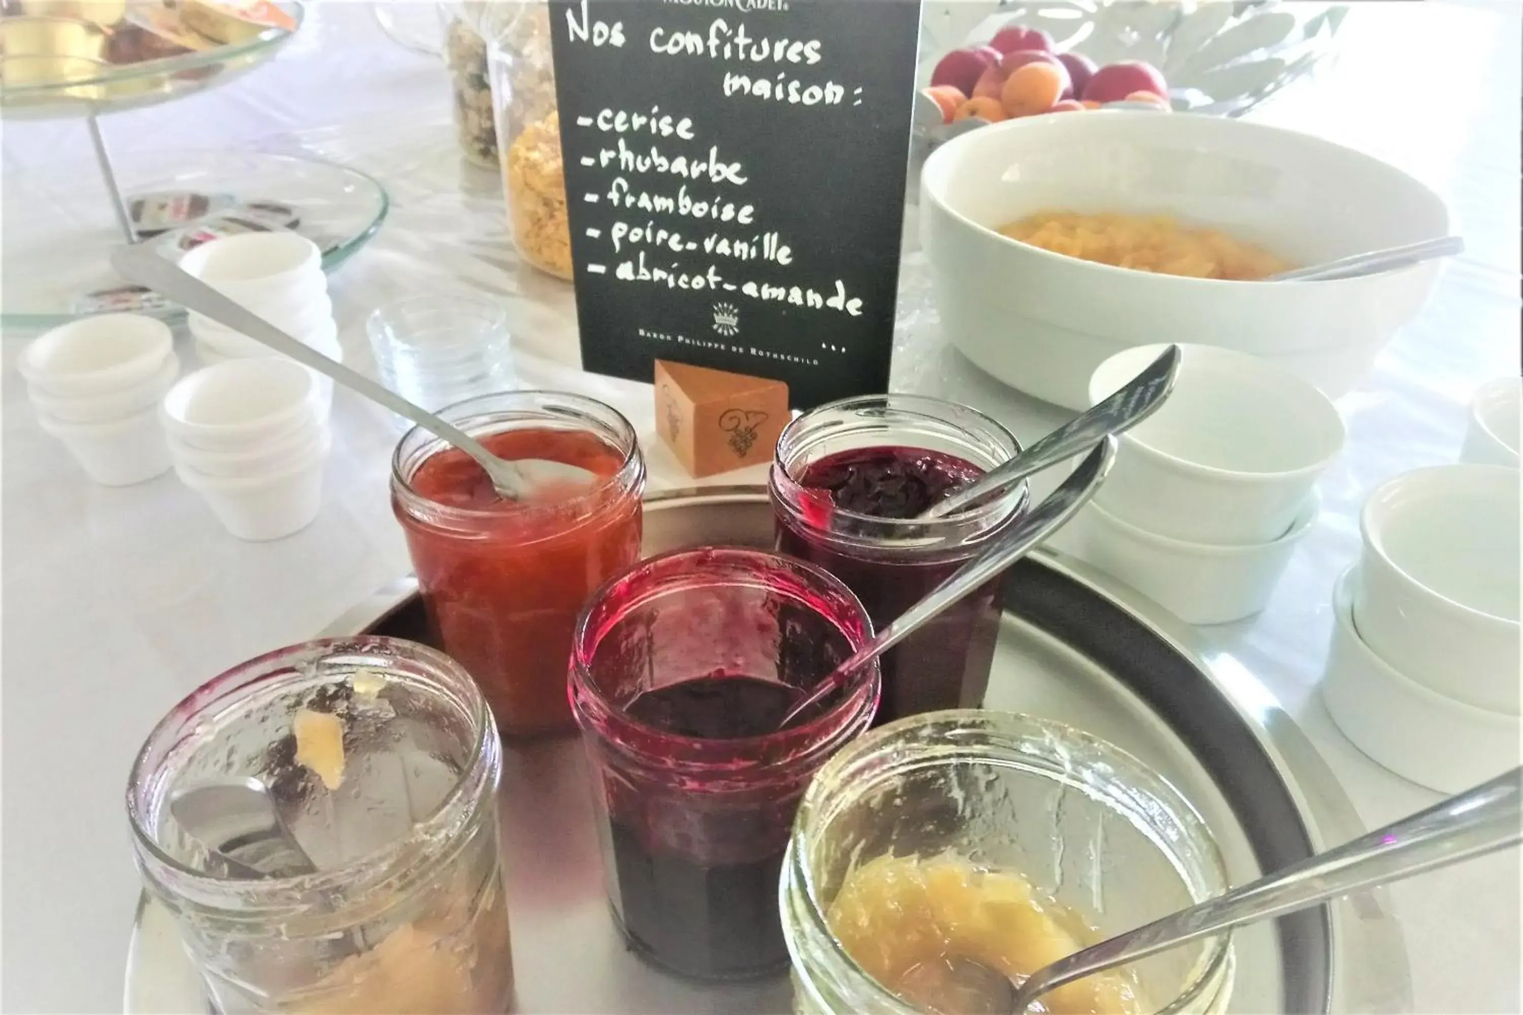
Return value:
<svg viewBox="0 0 1523 1015">
<path fill-rule="evenodd" d="M 1164 348 L 1103 362 L 1090 405 Z M 1343 420 L 1270 362 L 1208 345 L 1180 352 L 1173 394 L 1121 438 L 1095 499 L 1054 543 L 1191 624 L 1224 624 L 1264 609 L 1316 522 L 1316 481 L 1343 447 Z"/>
</svg>

